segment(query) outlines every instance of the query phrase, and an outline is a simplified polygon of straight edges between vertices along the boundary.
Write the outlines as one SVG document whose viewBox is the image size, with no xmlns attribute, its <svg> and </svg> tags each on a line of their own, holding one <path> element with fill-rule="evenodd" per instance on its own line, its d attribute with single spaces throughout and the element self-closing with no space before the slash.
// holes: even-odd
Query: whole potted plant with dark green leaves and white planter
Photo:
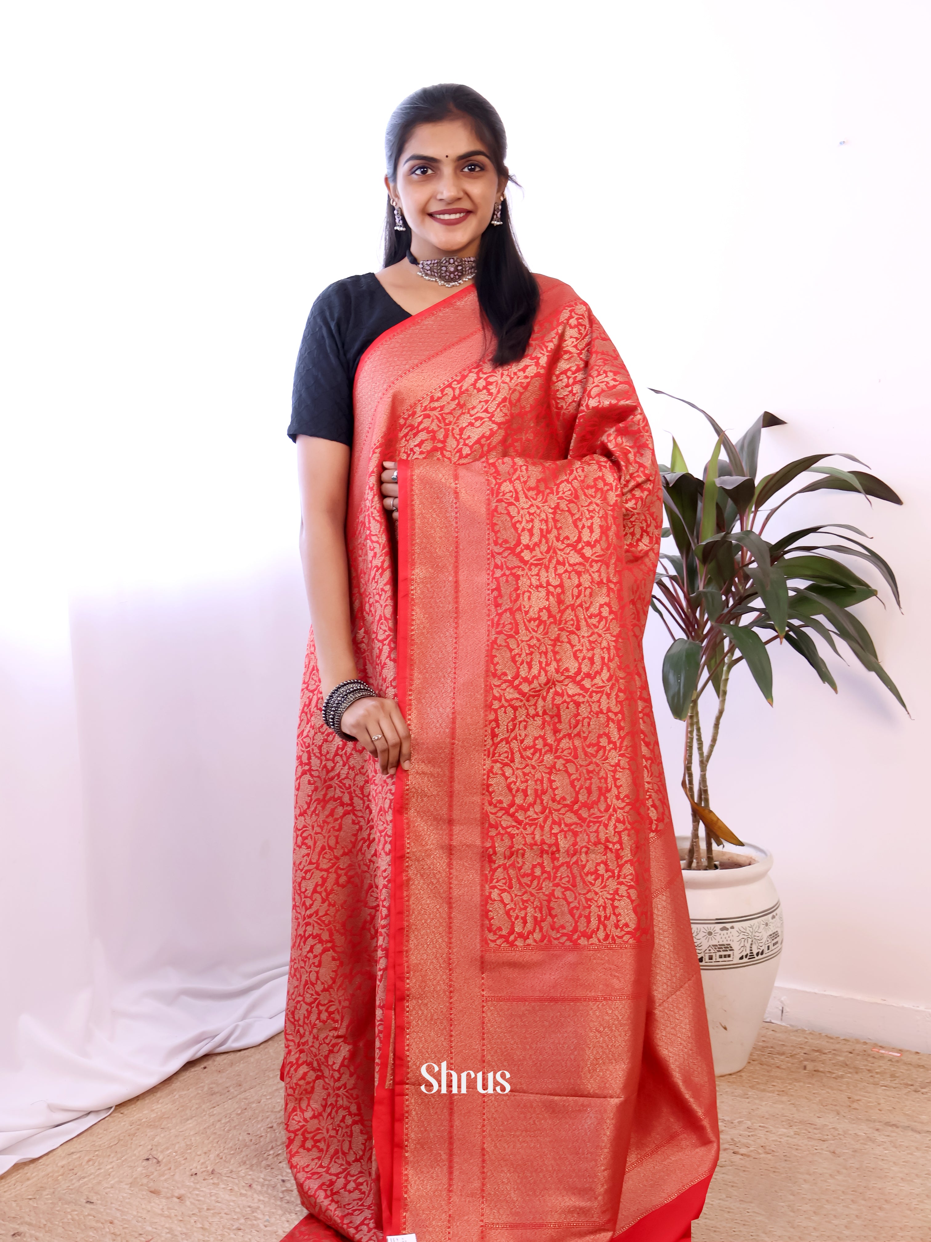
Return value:
<svg viewBox="0 0 931 1242">
<path fill-rule="evenodd" d="M 866 627 L 850 611 L 878 591 L 837 559 L 865 561 L 900 605 L 895 574 L 863 542 L 870 537 L 832 522 L 773 539 L 770 523 L 796 496 L 823 489 L 902 502 L 863 469 L 823 465 L 830 457 L 863 465 L 849 453 L 812 453 L 757 481 L 760 436 L 765 427 L 785 426 L 783 420 L 765 412 L 734 443 L 705 410 L 684 404 L 708 419 L 717 440 L 701 477 L 689 473 L 675 440 L 670 465 L 659 467 L 669 522 L 663 538 L 670 543 L 660 551 L 652 607 L 673 640 L 663 661 L 663 689 L 673 715 L 685 722 L 681 787 L 691 807 L 691 836 L 680 838 L 679 852 L 715 1072 L 724 1074 L 742 1069 L 750 1057 L 782 948 L 782 914 L 770 877 L 772 854 L 745 846 L 713 811 L 709 797 L 708 765 L 717 745 L 731 674 L 745 664 L 772 704 L 767 647 L 785 642 L 837 693 L 818 638 L 834 655 L 840 655 L 838 643 L 845 645 L 905 707 Z M 803 482 L 804 474 L 818 478 Z M 802 486 L 787 493 L 799 481 Z M 714 717 L 706 732 L 700 709 L 709 700 Z M 734 848 L 716 851 L 725 843 Z"/>
</svg>

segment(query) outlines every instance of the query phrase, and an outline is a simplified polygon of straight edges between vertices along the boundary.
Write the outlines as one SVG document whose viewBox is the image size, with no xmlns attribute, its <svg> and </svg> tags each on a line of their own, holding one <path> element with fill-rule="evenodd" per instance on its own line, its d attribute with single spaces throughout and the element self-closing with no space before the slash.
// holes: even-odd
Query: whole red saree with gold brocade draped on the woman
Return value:
<svg viewBox="0 0 931 1242">
<path fill-rule="evenodd" d="M 588 307 L 540 287 L 519 363 L 482 360 L 466 288 L 356 374 L 356 658 L 398 697 L 412 765 L 382 777 L 324 727 L 312 642 L 283 1066 L 310 1215 L 292 1242 L 680 1242 L 717 1158 L 641 653 L 649 430 Z"/>
</svg>

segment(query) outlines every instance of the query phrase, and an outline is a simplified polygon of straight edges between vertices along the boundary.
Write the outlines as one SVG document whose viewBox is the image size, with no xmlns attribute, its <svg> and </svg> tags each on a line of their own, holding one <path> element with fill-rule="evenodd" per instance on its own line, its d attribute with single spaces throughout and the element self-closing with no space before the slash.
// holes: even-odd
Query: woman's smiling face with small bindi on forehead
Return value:
<svg viewBox="0 0 931 1242">
<path fill-rule="evenodd" d="M 397 181 L 385 178 L 413 235 L 416 258 L 477 255 L 506 178 L 468 119 L 417 125 L 397 161 Z"/>
</svg>

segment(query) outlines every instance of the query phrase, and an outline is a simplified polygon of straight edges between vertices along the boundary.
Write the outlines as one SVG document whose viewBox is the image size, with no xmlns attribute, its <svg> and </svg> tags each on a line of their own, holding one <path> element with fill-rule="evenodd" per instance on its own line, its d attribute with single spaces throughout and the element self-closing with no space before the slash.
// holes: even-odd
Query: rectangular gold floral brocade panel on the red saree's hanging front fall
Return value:
<svg viewBox="0 0 931 1242">
<path fill-rule="evenodd" d="M 619 488 L 601 460 L 492 462 L 487 928 L 495 948 L 649 928 Z"/>
</svg>

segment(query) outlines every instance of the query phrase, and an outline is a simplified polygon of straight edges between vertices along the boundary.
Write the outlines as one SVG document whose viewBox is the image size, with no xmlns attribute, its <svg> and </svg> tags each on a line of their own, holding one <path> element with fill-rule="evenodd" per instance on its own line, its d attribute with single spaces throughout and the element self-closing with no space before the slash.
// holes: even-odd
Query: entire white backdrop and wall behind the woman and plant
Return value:
<svg viewBox="0 0 931 1242">
<path fill-rule="evenodd" d="M 847 450 L 905 496 L 842 520 L 902 570 L 906 616 L 874 625 L 916 723 L 855 668 L 834 699 L 781 658 L 775 710 L 734 686 L 713 779 L 777 854 L 781 981 L 931 1009 L 927 24 L 910 0 L 9 6 L 1 1160 L 281 1026 L 290 374 L 314 294 L 377 265 L 384 122 L 434 76 L 501 111 L 531 266 L 642 394 L 737 431 L 775 410 L 770 461 Z M 647 409 L 701 460 L 690 411 Z"/>
</svg>

